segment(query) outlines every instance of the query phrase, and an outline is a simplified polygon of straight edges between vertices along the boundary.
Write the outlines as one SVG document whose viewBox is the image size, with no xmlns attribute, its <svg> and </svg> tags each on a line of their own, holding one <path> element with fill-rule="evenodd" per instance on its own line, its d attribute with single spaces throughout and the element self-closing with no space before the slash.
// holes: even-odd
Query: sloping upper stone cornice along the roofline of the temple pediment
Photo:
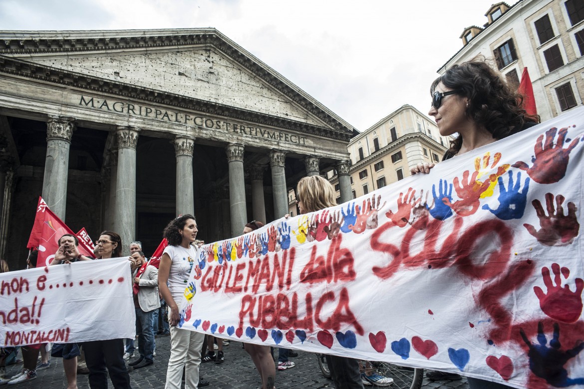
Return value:
<svg viewBox="0 0 584 389">
<path fill-rule="evenodd" d="M 256 77 L 272 85 L 280 93 L 290 98 L 294 103 L 304 110 L 307 110 L 319 120 L 322 120 L 333 130 L 348 136 L 352 136 L 353 128 L 345 123 L 326 107 L 321 106 L 317 100 L 305 95 L 300 88 L 286 80 L 267 65 L 263 64 L 244 49 L 229 40 L 215 29 L 197 30 L 150 30 L 138 32 L 137 30 L 119 32 L 67 32 L 63 36 L 59 33 L 51 32 L 53 37 L 47 37 L 49 32 L 14 32 L 0 33 L 0 54 L 22 55 L 22 54 L 57 54 L 57 53 L 86 53 L 95 51 L 112 50 L 144 50 L 152 48 L 180 48 L 189 46 L 213 46 L 227 57 L 236 61 L 242 67 L 251 71 Z M 98 37 L 89 36 L 95 34 Z M 127 34 L 130 36 L 116 37 L 112 33 Z M 133 34 L 134 33 L 134 34 Z M 138 33 L 140 33 L 138 35 Z M 159 33 L 158 35 L 147 36 L 144 33 Z M 19 36 L 18 36 L 18 35 Z M 44 34 L 45 37 L 41 37 Z M 36 36 L 35 36 L 36 35 Z M 67 35 L 67 37 L 65 37 Z M 77 35 L 77 37 L 74 37 Z M 101 36 L 99 36 L 101 35 Z M 0 59 L 1 61 L 1 59 Z M 0 64 L 1 65 L 1 64 Z M 41 67 L 39 67 L 41 68 Z M 59 70 L 61 73 L 65 71 Z M 79 77 L 85 77 L 79 75 Z M 106 81 L 109 84 L 116 84 Z M 135 87 L 134 87 L 135 88 Z M 164 93 L 164 92 L 159 92 Z"/>
</svg>

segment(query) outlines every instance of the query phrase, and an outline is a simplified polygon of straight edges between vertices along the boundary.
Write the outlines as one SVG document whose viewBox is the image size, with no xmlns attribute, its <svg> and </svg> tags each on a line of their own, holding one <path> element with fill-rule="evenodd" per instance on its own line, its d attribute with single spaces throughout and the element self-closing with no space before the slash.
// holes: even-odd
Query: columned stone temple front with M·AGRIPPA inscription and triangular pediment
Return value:
<svg viewBox="0 0 584 389">
<path fill-rule="evenodd" d="M 0 256 L 22 268 L 39 195 L 147 255 L 178 214 L 207 242 L 282 217 L 306 175 L 350 200 L 354 133 L 215 29 L 0 32 Z"/>
</svg>

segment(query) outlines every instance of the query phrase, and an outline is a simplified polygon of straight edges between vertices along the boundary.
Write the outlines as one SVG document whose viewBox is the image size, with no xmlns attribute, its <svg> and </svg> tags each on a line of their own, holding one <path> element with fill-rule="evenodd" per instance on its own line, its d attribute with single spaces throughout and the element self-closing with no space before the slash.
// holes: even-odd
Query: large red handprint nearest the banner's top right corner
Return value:
<svg viewBox="0 0 584 389">
<path fill-rule="evenodd" d="M 556 133 L 558 133 L 558 141 L 554 146 Z M 513 167 L 526 171 L 531 179 L 537 183 L 558 182 L 564 178 L 564 175 L 566 174 L 570 151 L 572 151 L 580 141 L 580 138 L 576 138 L 570 143 L 568 148 L 564 148 L 567 133 L 567 127 L 561 128 L 559 131 L 558 128 L 552 127 L 545 131 L 545 143 L 544 134 L 541 134 L 537 138 L 536 146 L 534 148 L 536 155 L 531 159 L 533 166 L 530 168 L 525 162 L 517 161 L 513 164 Z"/>
</svg>

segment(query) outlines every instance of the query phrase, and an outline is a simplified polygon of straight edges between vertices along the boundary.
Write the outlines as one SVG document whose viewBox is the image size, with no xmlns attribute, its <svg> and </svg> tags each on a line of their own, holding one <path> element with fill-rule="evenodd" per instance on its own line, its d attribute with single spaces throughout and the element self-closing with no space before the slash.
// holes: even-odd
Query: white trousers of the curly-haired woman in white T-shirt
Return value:
<svg viewBox="0 0 584 389">
<path fill-rule="evenodd" d="M 166 369 L 165 389 L 181 388 L 182 371 L 185 365 L 185 389 L 197 389 L 204 339 L 205 335 L 200 332 L 171 327 L 171 357 Z"/>
</svg>

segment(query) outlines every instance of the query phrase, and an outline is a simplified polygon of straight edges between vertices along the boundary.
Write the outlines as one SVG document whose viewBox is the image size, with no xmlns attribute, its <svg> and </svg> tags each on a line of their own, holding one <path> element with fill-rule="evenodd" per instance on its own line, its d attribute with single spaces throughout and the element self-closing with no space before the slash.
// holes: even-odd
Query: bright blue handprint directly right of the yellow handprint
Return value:
<svg viewBox="0 0 584 389">
<path fill-rule="evenodd" d="M 491 209 L 489 204 L 482 206 L 482 209 L 488 209 L 493 215 L 501 220 L 519 219 L 523 217 L 525 206 L 527 204 L 527 191 L 529 190 L 530 178 L 527 177 L 523 185 L 523 192 L 519 191 L 521 186 L 521 172 L 517 173 L 517 182 L 513 185 L 513 171 L 509 171 L 509 189 L 505 189 L 503 178 L 499 177 L 499 208 Z"/>
</svg>

